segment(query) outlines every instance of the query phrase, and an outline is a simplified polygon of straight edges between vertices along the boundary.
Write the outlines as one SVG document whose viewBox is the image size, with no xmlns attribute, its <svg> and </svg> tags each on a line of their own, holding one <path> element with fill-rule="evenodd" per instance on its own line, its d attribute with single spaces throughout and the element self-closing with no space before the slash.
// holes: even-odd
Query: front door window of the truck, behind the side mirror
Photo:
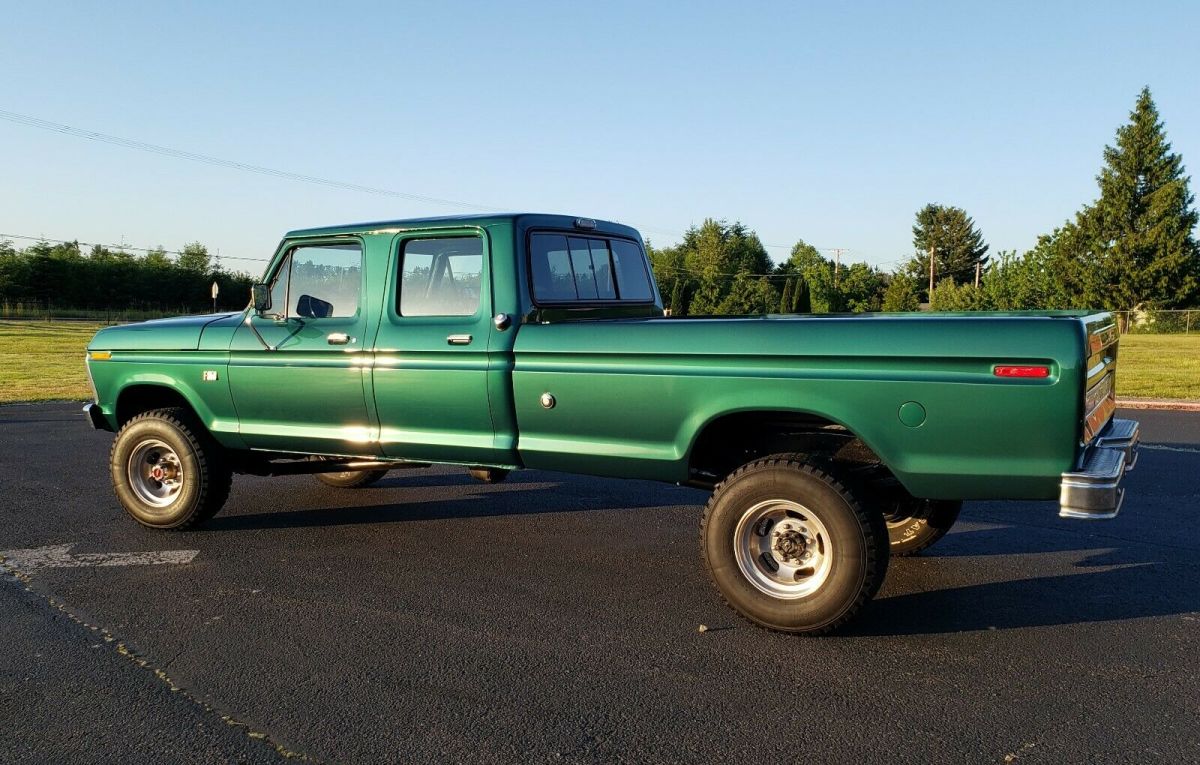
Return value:
<svg viewBox="0 0 1200 765">
<path fill-rule="evenodd" d="M 359 311 L 362 247 L 305 245 L 288 253 L 271 284 L 271 312 L 302 319 L 350 318 Z"/>
</svg>

